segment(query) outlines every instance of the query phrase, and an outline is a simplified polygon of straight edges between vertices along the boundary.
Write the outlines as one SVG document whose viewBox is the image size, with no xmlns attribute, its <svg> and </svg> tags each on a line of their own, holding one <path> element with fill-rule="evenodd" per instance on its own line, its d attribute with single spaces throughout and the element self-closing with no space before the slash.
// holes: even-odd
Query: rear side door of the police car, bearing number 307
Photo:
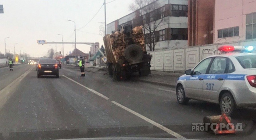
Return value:
<svg viewBox="0 0 256 140">
<path fill-rule="evenodd" d="M 227 76 L 227 62 L 227 57 L 214 58 L 209 73 L 203 80 L 203 94 L 201 96 L 203 100 L 209 102 L 216 102 L 218 100 L 218 91 Z"/>
</svg>

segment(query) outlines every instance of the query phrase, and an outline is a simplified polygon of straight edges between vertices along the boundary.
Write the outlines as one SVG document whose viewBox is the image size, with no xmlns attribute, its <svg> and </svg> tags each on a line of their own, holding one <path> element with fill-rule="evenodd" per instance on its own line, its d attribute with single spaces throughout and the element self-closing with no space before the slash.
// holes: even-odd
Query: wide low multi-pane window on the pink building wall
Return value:
<svg viewBox="0 0 256 140">
<path fill-rule="evenodd" d="M 239 27 L 218 30 L 218 38 L 239 36 Z"/>
</svg>

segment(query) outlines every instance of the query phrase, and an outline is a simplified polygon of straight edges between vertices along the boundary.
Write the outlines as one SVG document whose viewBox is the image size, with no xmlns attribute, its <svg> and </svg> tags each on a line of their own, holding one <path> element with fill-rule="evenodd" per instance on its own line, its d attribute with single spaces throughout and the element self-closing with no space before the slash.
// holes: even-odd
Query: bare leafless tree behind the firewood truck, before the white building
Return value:
<svg viewBox="0 0 256 140">
<path fill-rule="evenodd" d="M 134 3 L 129 5 L 133 12 L 139 12 L 143 22 L 141 25 L 144 30 L 144 38 L 150 51 L 155 50 L 158 41 L 156 29 L 164 21 L 164 15 L 160 9 L 157 0 L 133 0 Z"/>
</svg>

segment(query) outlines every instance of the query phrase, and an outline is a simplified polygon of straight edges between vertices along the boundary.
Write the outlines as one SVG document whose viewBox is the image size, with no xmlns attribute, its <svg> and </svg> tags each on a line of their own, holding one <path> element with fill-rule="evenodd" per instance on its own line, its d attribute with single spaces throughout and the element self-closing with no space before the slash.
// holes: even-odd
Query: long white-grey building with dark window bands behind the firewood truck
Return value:
<svg viewBox="0 0 256 140">
<path fill-rule="evenodd" d="M 154 4 L 157 5 L 157 8 L 148 12 L 141 12 L 145 11 L 143 9 L 149 9 L 147 7 Z M 187 12 L 188 0 L 156 0 L 133 13 L 109 23 L 107 25 L 107 34 L 118 30 L 119 26 L 123 24 L 132 24 L 135 27 L 147 24 L 148 21 L 162 21 L 153 33 L 154 41 L 156 42 L 155 50 L 185 47 L 188 44 Z M 147 44 L 149 39 L 149 32 L 145 31 Z M 147 50 L 150 51 L 149 47 L 147 47 Z"/>
</svg>

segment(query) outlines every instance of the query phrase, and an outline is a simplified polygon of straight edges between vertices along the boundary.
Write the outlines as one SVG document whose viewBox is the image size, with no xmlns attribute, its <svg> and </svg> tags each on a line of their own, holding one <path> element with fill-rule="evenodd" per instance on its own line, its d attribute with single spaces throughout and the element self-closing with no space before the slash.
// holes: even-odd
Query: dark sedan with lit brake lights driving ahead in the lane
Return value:
<svg viewBox="0 0 256 140">
<path fill-rule="evenodd" d="M 56 59 L 40 59 L 37 67 L 37 77 L 54 75 L 59 78 L 59 65 Z"/>
</svg>

